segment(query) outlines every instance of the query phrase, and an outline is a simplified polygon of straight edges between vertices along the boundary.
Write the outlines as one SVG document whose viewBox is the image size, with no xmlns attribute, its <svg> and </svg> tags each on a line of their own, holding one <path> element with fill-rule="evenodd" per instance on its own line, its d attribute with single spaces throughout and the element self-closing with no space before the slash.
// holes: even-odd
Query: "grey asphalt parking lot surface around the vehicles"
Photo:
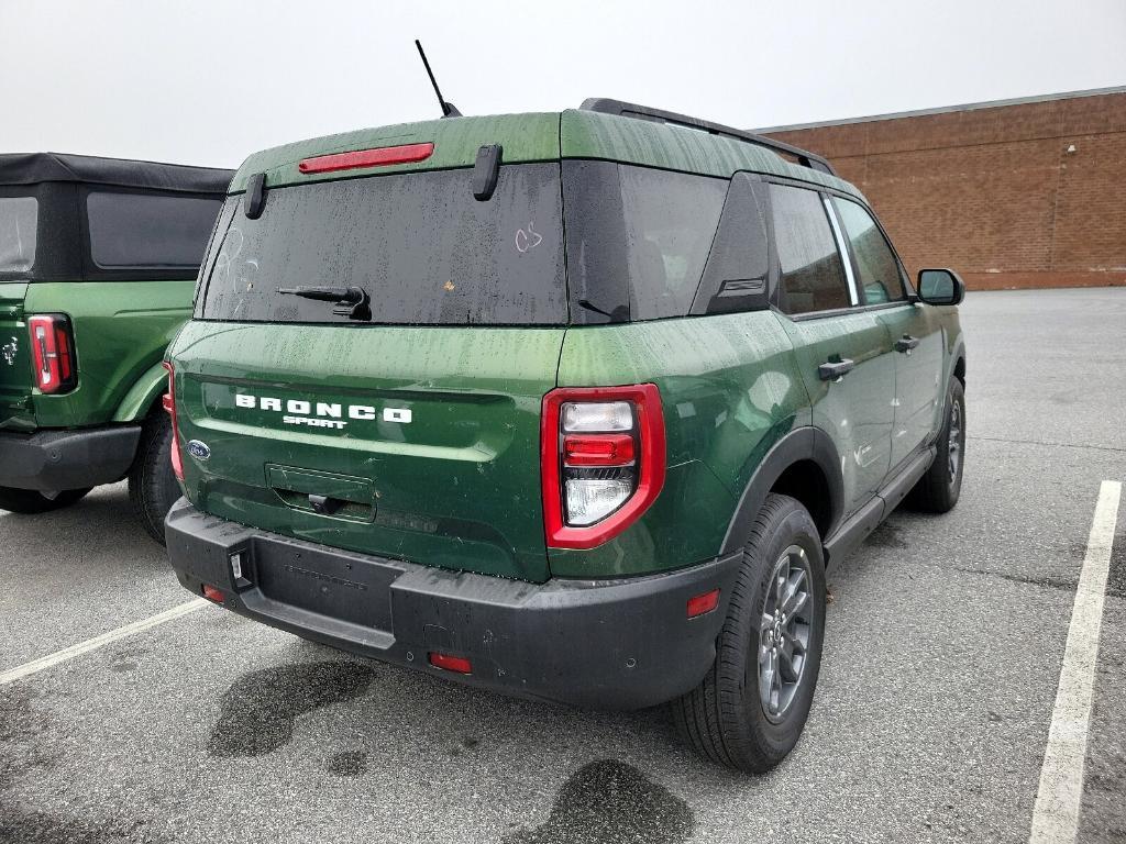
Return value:
<svg viewBox="0 0 1126 844">
<path fill-rule="evenodd" d="M 967 464 L 831 582 L 805 736 L 745 778 L 663 712 L 367 663 L 211 605 L 0 685 L 0 841 L 1026 842 L 1088 533 L 1126 479 L 1126 289 L 972 294 Z M 124 485 L 0 513 L 0 673 L 190 600 Z M 1126 517 L 1079 839 L 1126 841 Z"/>
</svg>

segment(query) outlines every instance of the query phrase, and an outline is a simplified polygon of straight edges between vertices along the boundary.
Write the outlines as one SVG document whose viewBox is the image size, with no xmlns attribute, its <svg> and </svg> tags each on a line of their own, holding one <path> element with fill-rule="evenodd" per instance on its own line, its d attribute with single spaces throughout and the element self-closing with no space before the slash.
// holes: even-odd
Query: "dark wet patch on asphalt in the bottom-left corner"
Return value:
<svg viewBox="0 0 1126 844">
<path fill-rule="evenodd" d="M 89 820 L 29 809 L 12 796 L 18 780 L 36 771 L 50 771 L 56 757 L 44 748 L 42 737 L 55 727 L 54 719 L 28 686 L 0 690 L 0 842 L 19 844 L 123 844 L 155 842 L 143 820 Z"/>
</svg>

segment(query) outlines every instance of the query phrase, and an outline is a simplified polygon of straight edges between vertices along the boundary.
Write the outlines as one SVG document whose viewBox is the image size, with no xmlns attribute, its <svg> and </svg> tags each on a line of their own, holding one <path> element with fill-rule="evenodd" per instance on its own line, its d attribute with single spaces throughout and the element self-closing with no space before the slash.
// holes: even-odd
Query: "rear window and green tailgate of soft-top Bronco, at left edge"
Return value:
<svg viewBox="0 0 1126 844">
<path fill-rule="evenodd" d="M 35 264 L 38 203 L 0 196 L 0 430 L 34 424 L 32 363 L 24 320 L 27 278 Z M 5 280 L 9 279 L 9 280 Z"/>
</svg>

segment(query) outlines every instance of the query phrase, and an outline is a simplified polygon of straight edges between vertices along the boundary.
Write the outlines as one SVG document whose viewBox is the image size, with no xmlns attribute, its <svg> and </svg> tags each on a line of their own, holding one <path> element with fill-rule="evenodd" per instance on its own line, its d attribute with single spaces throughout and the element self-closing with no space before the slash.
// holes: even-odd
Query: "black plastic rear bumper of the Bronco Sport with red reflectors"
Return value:
<svg viewBox="0 0 1126 844">
<path fill-rule="evenodd" d="M 180 583 L 197 595 L 204 584 L 220 587 L 234 612 L 383 662 L 595 709 L 654 706 L 703 680 L 742 558 L 535 584 L 303 542 L 207 515 L 185 499 L 168 514 L 166 537 Z M 720 605 L 687 618 L 688 599 L 716 587 Z M 467 657 L 473 673 L 431 666 L 431 652 Z"/>
</svg>

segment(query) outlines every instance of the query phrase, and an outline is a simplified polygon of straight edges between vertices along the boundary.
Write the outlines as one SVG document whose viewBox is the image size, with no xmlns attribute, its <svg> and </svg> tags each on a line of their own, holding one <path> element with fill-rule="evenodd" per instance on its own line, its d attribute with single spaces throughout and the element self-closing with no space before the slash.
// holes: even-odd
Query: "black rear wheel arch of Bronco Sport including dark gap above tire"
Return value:
<svg viewBox="0 0 1126 844">
<path fill-rule="evenodd" d="M 844 482 L 829 434 L 819 428 L 798 428 L 771 447 L 739 499 L 722 554 L 747 545 L 751 526 L 771 492 L 797 499 L 813 517 L 822 540 L 830 536 L 843 512 Z"/>
</svg>

